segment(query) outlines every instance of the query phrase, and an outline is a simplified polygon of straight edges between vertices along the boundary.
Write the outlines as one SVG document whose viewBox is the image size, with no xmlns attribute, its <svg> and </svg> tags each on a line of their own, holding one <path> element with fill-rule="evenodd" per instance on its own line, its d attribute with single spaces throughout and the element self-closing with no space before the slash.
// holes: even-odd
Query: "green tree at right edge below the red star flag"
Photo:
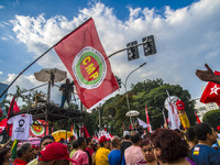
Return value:
<svg viewBox="0 0 220 165">
<path fill-rule="evenodd" d="M 217 128 L 218 125 L 220 125 L 219 109 L 206 112 L 202 117 L 202 121 L 210 123 L 213 128 Z"/>
</svg>

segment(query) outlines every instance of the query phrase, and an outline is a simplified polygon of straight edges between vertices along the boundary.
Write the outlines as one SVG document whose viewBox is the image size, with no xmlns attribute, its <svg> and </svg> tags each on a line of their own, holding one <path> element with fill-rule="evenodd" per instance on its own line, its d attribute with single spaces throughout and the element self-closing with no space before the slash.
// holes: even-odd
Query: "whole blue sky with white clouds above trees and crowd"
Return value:
<svg viewBox="0 0 220 165">
<path fill-rule="evenodd" d="M 195 76 L 197 68 L 208 63 L 220 70 L 220 0 L 1 0 L 0 1 L 0 81 L 9 84 L 23 68 L 92 16 L 101 43 L 111 54 L 127 43 L 154 35 L 157 54 L 128 62 L 127 53 L 110 58 L 112 72 L 129 84 L 144 79 L 163 78 L 180 85 L 193 98 L 201 95 L 206 82 Z M 41 85 L 33 73 L 45 67 L 64 65 L 51 51 L 28 69 L 14 85 L 32 88 Z M 9 92 L 14 91 L 14 86 Z M 45 89 L 43 89 L 45 90 Z M 52 99 L 61 94 L 54 89 Z"/>
</svg>

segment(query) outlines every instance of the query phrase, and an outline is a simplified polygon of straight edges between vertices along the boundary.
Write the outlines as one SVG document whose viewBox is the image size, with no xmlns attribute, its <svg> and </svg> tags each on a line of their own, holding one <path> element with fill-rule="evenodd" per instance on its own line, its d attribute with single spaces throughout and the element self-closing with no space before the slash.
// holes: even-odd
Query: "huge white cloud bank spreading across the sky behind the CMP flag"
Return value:
<svg viewBox="0 0 220 165">
<path fill-rule="evenodd" d="M 219 10 L 220 0 L 200 0 L 178 10 L 166 7 L 163 15 L 154 9 L 130 7 L 130 18 L 121 21 L 114 15 L 114 9 L 96 3 L 80 10 L 73 20 L 63 15 L 46 20 L 41 14 L 37 18 L 16 15 L 11 22 L 18 40 L 36 56 L 90 16 L 108 55 L 124 48 L 129 42 L 138 40 L 140 43 L 142 37 L 153 34 L 156 55 L 145 57 L 142 47 L 140 59 L 133 62 L 128 62 L 125 52 L 114 55 L 110 58 L 113 73 L 124 80 L 131 70 L 146 62 L 147 65 L 134 73 L 129 84 L 158 77 L 169 84 L 179 84 L 198 97 L 195 95 L 202 82 L 195 76 L 196 68 L 202 69 L 208 63 L 220 69 Z M 37 64 L 65 69 L 54 51 Z"/>
</svg>

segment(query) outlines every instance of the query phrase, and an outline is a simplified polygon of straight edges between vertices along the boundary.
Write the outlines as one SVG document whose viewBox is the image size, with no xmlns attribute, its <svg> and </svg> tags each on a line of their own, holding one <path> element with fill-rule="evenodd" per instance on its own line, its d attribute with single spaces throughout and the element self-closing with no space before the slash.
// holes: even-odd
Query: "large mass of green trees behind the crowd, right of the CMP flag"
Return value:
<svg viewBox="0 0 220 165">
<path fill-rule="evenodd" d="M 145 106 L 148 109 L 150 121 L 152 128 L 155 130 L 164 124 L 162 110 L 165 109 L 164 103 L 167 96 L 177 96 L 185 102 L 185 111 L 188 116 L 191 125 L 195 124 L 196 117 L 194 113 L 194 102 L 190 101 L 190 94 L 184 90 L 179 85 L 168 85 L 162 79 L 144 80 L 136 85 L 131 85 L 131 90 L 128 91 L 129 105 L 131 110 L 140 112 L 140 118 L 146 121 Z M 127 103 L 127 95 L 117 95 L 116 97 L 107 100 L 100 108 L 101 120 L 102 117 L 111 116 L 112 119 L 108 119 L 108 124 L 112 124 L 112 134 L 122 134 L 122 124 L 124 123 L 125 129 L 129 129 L 130 119 L 125 117 L 129 111 Z M 167 110 L 165 110 L 166 118 L 168 117 Z M 98 121 L 98 116 L 94 116 Z M 101 123 L 103 120 L 101 121 Z M 97 122 L 95 122 L 97 124 Z M 103 125 L 103 124 L 102 124 Z"/>
</svg>

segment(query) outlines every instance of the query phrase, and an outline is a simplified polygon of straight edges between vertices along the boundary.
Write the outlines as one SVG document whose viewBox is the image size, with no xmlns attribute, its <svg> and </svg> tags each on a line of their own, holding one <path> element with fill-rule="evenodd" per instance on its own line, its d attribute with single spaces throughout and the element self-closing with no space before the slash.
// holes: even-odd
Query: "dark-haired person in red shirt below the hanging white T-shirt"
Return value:
<svg viewBox="0 0 220 165">
<path fill-rule="evenodd" d="M 31 143 L 23 143 L 16 150 L 18 158 L 14 160 L 13 165 L 26 165 L 32 157 L 32 146 Z"/>
</svg>

